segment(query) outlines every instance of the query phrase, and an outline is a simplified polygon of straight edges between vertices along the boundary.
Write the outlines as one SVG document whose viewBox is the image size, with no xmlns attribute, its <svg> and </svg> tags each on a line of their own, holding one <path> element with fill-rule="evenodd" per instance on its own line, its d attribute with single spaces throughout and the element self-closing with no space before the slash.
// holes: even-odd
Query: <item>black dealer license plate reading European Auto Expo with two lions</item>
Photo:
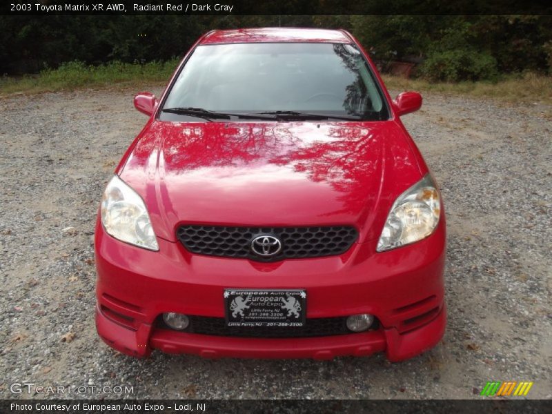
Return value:
<svg viewBox="0 0 552 414">
<path fill-rule="evenodd" d="M 226 326 L 304 326 L 306 291 L 225 289 Z"/>
</svg>

